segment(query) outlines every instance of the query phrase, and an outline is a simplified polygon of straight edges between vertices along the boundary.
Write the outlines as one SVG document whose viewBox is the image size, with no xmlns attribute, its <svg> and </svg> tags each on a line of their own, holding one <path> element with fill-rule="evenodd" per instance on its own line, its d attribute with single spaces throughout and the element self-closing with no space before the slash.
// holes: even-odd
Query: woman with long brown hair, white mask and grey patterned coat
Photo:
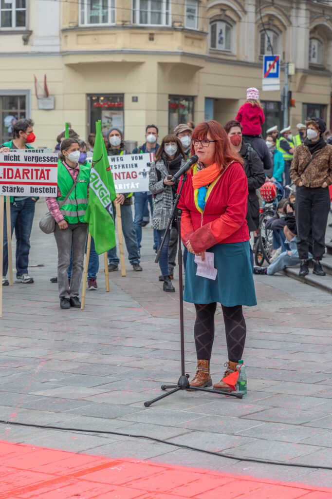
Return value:
<svg viewBox="0 0 332 499">
<path fill-rule="evenodd" d="M 166 135 L 156 153 L 156 161 L 151 164 L 149 190 L 155 196 L 151 225 L 157 230 L 158 250 L 162 244 L 177 190 L 178 182 L 172 182 L 170 179 L 185 164 L 185 158 L 179 139 L 175 135 Z M 175 289 L 170 282 L 168 269 L 168 243 L 169 231 L 160 255 L 159 266 L 164 277 L 164 291 L 173 293 Z"/>
</svg>

